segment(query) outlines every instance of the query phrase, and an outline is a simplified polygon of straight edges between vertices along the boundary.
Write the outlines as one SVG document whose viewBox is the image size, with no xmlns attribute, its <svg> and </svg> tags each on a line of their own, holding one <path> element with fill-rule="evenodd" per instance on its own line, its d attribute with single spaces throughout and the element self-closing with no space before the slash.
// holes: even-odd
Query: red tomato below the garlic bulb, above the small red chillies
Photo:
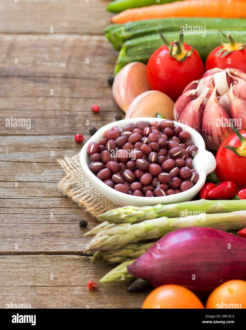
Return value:
<svg viewBox="0 0 246 330">
<path fill-rule="evenodd" d="M 240 131 L 242 136 L 246 138 L 246 131 Z M 236 134 L 231 134 L 228 138 L 222 142 L 222 146 L 240 147 L 241 142 L 239 141 Z M 246 144 L 242 145 L 240 153 L 242 156 L 236 155 L 232 150 L 219 147 L 216 154 L 217 167 L 215 173 L 220 182 L 232 181 L 238 188 L 246 187 Z M 243 156 L 245 154 L 245 156 Z"/>
</svg>

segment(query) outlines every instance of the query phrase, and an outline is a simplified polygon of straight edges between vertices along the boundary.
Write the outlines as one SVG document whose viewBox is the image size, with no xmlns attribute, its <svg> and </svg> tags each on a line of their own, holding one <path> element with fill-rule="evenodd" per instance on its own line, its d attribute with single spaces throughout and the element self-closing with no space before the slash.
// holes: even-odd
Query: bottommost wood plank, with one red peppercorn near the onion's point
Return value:
<svg viewBox="0 0 246 330">
<path fill-rule="evenodd" d="M 31 308 L 140 308 L 148 294 L 127 292 L 128 283 L 99 283 L 113 265 L 88 257 L 0 256 L 0 264 L 0 308 L 11 301 Z M 88 281 L 98 288 L 89 291 Z"/>
</svg>

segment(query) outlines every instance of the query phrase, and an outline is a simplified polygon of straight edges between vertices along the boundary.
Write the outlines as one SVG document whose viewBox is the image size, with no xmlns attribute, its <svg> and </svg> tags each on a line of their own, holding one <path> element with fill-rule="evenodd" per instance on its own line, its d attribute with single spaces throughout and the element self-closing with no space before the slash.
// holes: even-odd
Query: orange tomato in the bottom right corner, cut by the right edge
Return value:
<svg viewBox="0 0 246 330">
<path fill-rule="evenodd" d="M 210 294 L 206 308 L 246 308 L 246 282 L 232 280 L 221 284 Z"/>
</svg>

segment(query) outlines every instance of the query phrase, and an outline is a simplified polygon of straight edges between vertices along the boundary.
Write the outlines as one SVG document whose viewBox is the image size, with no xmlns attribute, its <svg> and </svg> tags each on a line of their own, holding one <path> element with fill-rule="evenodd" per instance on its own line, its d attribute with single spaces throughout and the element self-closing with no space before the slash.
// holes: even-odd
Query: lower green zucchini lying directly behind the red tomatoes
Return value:
<svg viewBox="0 0 246 330">
<path fill-rule="evenodd" d="M 233 36 L 236 42 L 245 42 L 246 32 L 237 30 L 223 29 L 225 34 L 229 33 Z M 205 61 L 210 51 L 220 45 L 217 37 L 217 29 L 206 29 L 206 36 L 201 37 L 200 34 L 185 34 L 184 42 L 192 45 L 201 56 L 202 60 Z M 165 33 L 165 38 L 171 42 L 179 39 L 179 31 L 170 31 Z M 134 61 L 147 63 L 153 52 L 163 45 L 163 41 L 160 39 L 159 34 L 151 34 L 140 38 L 135 38 L 126 41 L 116 61 L 114 69 L 115 75 L 123 68 L 126 64 Z"/>
</svg>

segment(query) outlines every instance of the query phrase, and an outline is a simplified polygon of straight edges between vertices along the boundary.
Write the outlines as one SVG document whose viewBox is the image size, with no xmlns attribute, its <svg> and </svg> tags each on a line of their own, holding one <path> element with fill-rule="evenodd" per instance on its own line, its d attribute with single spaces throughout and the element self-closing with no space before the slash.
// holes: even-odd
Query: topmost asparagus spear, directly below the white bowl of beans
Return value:
<svg viewBox="0 0 246 330">
<path fill-rule="evenodd" d="M 135 223 L 149 219 L 156 219 L 162 216 L 180 217 L 191 215 L 189 212 L 206 213 L 227 213 L 246 210 L 246 200 L 206 200 L 182 202 L 169 205 L 158 204 L 156 206 L 125 206 L 110 210 L 100 215 L 100 218 L 112 223 Z"/>
</svg>

